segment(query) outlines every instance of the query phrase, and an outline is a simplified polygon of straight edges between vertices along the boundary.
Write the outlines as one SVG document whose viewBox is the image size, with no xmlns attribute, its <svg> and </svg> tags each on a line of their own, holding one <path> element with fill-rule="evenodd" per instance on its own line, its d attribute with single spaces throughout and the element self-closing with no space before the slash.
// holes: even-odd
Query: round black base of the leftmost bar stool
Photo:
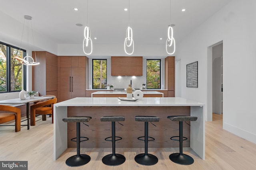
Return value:
<svg viewBox="0 0 256 170">
<path fill-rule="evenodd" d="M 70 156 L 66 160 L 66 165 L 76 167 L 87 164 L 91 160 L 91 157 L 87 154 L 80 154 L 80 156 Z"/>
</svg>

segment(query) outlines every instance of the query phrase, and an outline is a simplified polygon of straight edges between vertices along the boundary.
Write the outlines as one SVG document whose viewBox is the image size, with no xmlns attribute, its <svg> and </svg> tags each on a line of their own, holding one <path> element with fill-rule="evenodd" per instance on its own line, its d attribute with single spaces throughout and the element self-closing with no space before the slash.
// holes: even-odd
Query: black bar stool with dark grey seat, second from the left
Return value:
<svg viewBox="0 0 256 170">
<path fill-rule="evenodd" d="M 112 121 L 112 137 L 107 137 L 105 141 L 112 141 L 112 154 L 108 154 L 102 158 L 102 162 L 108 166 L 117 166 L 125 162 L 125 157 L 122 154 L 116 154 L 116 141 L 121 140 L 121 137 L 116 136 L 116 121 L 124 121 L 124 116 L 103 116 L 100 121 Z M 121 123 L 119 123 L 122 125 Z M 112 138 L 112 140 L 109 140 Z M 116 139 L 118 138 L 118 139 Z"/>
</svg>

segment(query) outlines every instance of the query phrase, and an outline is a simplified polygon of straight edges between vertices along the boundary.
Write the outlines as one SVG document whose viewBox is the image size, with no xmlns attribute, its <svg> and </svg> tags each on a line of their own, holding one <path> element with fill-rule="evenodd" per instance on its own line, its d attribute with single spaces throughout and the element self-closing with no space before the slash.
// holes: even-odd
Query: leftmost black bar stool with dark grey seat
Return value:
<svg viewBox="0 0 256 170">
<path fill-rule="evenodd" d="M 76 122 L 76 137 L 71 139 L 71 141 L 76 142 L 76 155 L 70 156 L 66 160 L 66 165 L 68 166 L 82 166 L 87 164 L 91 160 L 89 155 L 80 154 L 80 142 L 88 140 L 87 137 L 80 137 L 80 122 L 88 122 L 90 121 L 90 119 L 92 119 L 92 117 L 88 116 L 73 116 L 62 119 L 62 121 L 64 122 Z M 84 140 L 80 141 L 80 138 L 84 138 Z M 74 139 L 76 139 L 76 141 Z"/>
</svg>

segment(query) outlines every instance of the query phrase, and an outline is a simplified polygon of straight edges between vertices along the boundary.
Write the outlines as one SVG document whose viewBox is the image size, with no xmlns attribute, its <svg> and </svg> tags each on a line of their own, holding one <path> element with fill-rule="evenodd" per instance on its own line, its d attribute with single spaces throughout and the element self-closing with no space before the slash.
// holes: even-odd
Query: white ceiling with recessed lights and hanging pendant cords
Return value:
<svg viewBox="0 0 256 170">
<path fill-rule="evenodd" d="M 130 0 L 134 45 L 166 43 L 170 22 L 176 25 L 178 42 L 230 1 L 171 0 L 170 19 L 170 0 Z M 88 0 L 88 21 L 86 0 L 0 0 L 0 11 L 22 24 L 24 15 L 31 16 L 33 31 L 57 44 L 82 44 L 86 25 L 93 43 L 123 44 L 129 25 L 129 12 L 124 11 L 128 4 L 129 0 Z M 183 8 L 185 12 L 181 12 Z"/>
</svg>

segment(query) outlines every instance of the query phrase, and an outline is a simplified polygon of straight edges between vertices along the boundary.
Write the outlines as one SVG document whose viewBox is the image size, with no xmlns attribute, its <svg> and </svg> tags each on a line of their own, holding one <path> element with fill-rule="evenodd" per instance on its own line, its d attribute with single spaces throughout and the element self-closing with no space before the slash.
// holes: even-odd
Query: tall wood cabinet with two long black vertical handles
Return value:
<svg viewBox="0 0 256 170">
<path fill-rule="evenodd" d="M 58 101 L 86 96 L 87 57 L 59 56 Z"/>
</svg>

